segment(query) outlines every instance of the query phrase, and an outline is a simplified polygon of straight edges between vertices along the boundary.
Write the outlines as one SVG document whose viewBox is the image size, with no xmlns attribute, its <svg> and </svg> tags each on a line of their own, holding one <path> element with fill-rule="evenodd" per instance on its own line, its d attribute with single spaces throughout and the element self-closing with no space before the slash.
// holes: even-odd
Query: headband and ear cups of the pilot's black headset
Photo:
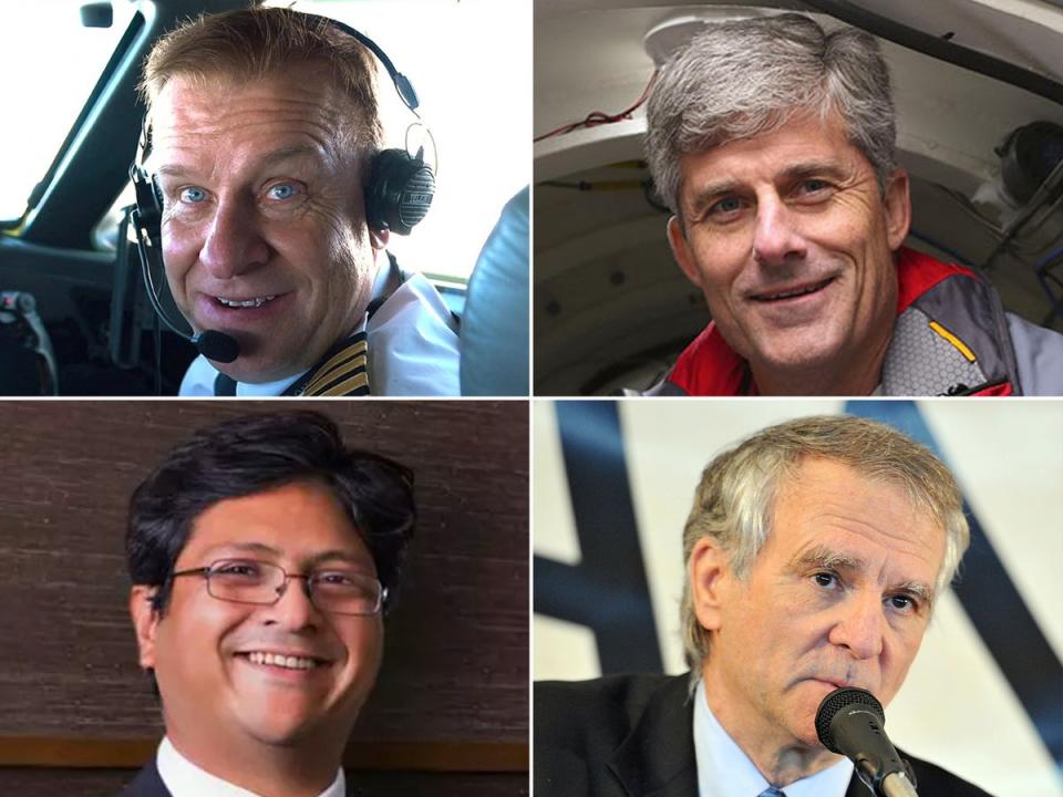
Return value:
<svg viewBox="0 0 1063 797">
<path fill-rule="evenodd" d="M 388 54 L 372 39 L 328 17 L 302 11 L 292 13 L 309 21 L 327 23 L 353 37 L 384 65 L 403 104 L 414 116 L 421 118 L 416 110 L 420 102 L 413 84 L 395 69 Z M 152 248 L 156 252 L 159 251 L 162 246 L 163 194 L 154 175 L 144 167 L 151 154 L 151 126 L 145 115 L 137 157 L 130 166 L 130 177 L 136 194 L 136 208 L 132 214 L 132 221 L 142 258 L 147 256 Z M 414 225 L 427 215 L 432 197 L 435 195 L 435 175 L 432 167 L 424 162 L 424 147 L 421 147 L 416 155 L 411 155 L 406 149 L 382 149 L 373 155 L 364 194 L 365 221 L 370 229 L 409 235 Z M 151 292 L 151 286 L 148 290 Z"/>
</svg>

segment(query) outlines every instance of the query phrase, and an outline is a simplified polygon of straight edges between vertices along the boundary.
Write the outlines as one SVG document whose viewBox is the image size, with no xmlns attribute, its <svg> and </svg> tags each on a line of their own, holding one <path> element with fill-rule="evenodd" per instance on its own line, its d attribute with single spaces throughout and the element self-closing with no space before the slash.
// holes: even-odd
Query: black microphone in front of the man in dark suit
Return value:
<svg viewBox="0 0 1063 797">
<path fill-rule="evenodd" d="M 837 689 L 816 711 L 819 742 L 850 758 L 876 797 L 918 797 L 911 767 L 897 754 L 885 725 L 883 704 L 866 690 Z"/>
</svg>

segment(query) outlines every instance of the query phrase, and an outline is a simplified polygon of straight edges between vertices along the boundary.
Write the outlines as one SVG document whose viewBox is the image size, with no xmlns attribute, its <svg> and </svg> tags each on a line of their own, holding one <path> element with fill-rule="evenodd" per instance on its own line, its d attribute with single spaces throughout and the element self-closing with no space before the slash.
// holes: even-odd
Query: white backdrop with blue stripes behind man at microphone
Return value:
<svg viewBox="0 0 1063 797">
<path fill-rule="evenodd" d="M 887 712 L 998 797 L 1063 797 L 1063 402 L 536 401 L 534 673 L 679 673 L 681 535 L 701 469 L 788 417 L 848 412 L 933 448 L 972 547 Z"/>
</svg>

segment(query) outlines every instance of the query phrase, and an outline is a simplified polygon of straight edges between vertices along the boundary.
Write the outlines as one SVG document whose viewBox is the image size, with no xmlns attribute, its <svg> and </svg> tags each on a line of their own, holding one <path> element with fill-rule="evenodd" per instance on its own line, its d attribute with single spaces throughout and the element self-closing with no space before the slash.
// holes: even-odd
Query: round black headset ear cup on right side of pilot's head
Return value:
<svg viewBox="0 0 1063 797">
<path fill-rule="evenodd" d="M 383 149 L 373 156 L 365 186 L 365 221 L 370 229 L 410 235 L 435 196 L 435 175 L 405 149 Z"/>
</svg>

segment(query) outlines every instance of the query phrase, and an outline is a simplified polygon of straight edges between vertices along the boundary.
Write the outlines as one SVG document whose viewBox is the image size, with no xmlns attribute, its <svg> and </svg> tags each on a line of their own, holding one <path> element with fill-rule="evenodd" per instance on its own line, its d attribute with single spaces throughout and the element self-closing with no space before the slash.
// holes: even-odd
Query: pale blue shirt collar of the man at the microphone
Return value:
<svg viewBox="0 0 1063 797">
<path fill-rule="evenodd" d="M 713 716 L 705 700 L 704 681 L 694 692 L 694 757 L 700 797 L 757 797 L 771 786 Z M 845 797 L 853 762 L 843 758 L 812 777 L 782 786 L 786 797 Z"/>
</svg>

